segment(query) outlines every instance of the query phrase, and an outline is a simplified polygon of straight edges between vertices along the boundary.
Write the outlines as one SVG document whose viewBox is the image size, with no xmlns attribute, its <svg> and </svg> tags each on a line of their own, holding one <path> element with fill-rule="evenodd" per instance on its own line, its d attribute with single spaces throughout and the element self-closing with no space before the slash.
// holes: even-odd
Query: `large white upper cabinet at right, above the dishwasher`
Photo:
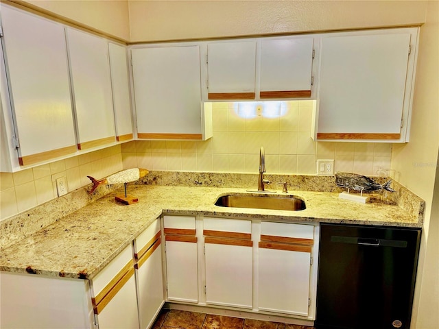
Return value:
<svg viewBox="0 0 439 329">
<path fill-rule="evenodd" d="M 320 140 L 408 141 L 418 28 L 324 34 Z"/>
</svg>

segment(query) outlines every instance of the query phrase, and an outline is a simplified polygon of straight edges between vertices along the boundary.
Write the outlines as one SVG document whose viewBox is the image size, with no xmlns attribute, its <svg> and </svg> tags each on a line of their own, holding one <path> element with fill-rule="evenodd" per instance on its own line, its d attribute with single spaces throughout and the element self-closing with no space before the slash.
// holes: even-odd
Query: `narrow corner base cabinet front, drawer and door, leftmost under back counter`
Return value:
<svg viewBox="0 0 439 329">
<path fill-rule="evenodd" d="M 195 218 L 165 216 L 167 300 L 198 302 Z"/>
</svg>

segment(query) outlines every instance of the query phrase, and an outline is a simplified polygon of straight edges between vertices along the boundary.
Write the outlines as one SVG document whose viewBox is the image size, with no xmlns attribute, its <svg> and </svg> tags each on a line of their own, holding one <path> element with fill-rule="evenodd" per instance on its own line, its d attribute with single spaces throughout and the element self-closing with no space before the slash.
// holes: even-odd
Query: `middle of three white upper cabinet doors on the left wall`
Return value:
<svg viewBox="0 0 439 329">
<path fill-rule="evenodd" d="M 115 142 L 108 42 L 67 28 L 78 147 L 88 149 Z"/>
</svg>

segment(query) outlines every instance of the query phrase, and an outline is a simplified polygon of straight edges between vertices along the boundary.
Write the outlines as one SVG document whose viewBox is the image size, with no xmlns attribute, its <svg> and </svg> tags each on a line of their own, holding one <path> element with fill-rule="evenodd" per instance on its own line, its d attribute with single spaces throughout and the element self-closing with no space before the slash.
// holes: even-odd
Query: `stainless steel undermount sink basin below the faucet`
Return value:
<svg viewBox="0 0 439 329">
<path fill-rule="evenodd" d="M 294 195 L 223 195 L 215 206 L 273 210 L 304 210 L 305 201 Z"/>
</svg>

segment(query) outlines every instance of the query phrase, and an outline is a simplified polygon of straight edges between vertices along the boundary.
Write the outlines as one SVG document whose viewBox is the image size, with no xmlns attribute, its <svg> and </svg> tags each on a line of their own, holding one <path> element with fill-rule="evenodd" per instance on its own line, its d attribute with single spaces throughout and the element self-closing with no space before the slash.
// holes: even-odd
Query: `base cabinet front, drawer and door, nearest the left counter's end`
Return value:
<svg viewBox="0 0 439 329">
<path fill-rule="evenodd" d="M 139 328 L 132 245 L 92 280 L 93 310 L 99 328 Z"/>
</svg>

